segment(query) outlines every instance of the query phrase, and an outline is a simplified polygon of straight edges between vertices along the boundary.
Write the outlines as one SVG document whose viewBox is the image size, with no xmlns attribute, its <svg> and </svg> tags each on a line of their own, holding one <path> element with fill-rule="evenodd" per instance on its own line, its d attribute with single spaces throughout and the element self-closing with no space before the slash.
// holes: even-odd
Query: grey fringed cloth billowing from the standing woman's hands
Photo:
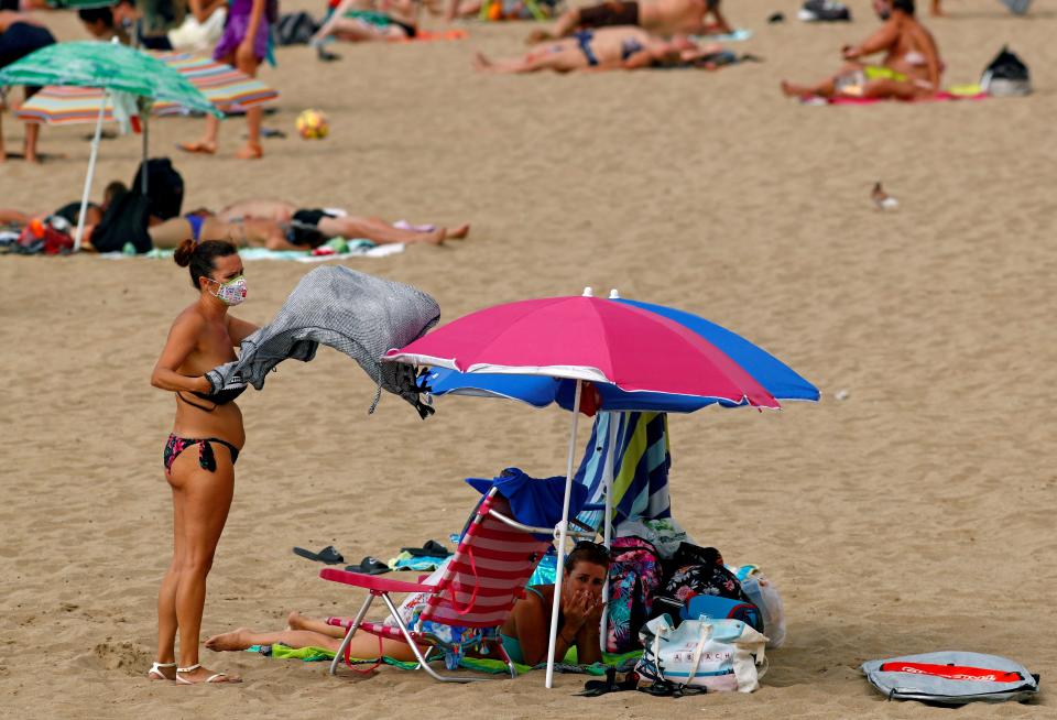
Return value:
<svg viewBox="0 0 1057 720">
<path fill-rule="evenodd" d="M 379 358 L 422 337 L 439 319 L 437 302 L 411 285 L 341 265 L 316 268 L 302 277 L 275 318 L 242 341 L 239 359 L 207 377 L 215 392 L 240 382 L 260 390 L 272 368 L 287 359 L 312 360 L 322 342 L 356 360 L 378 383 L 370 412 L 384 389 L 426 417 L 433 408 L 418 399 L 414 370 Z"/>
</svg>

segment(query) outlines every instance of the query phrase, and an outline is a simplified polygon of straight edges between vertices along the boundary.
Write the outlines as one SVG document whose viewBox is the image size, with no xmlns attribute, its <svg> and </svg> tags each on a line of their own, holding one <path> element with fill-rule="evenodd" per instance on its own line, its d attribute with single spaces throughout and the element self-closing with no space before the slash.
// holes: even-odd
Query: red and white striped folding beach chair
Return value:
<svg viewBox="0 0 1057 720">
<path fill-rule="evenodd" d="M 553 533 L 549 527 L 530 527 L 511 517 L 506 499 L 493 488 L 480 501 L 470 516 L 455 557 L 436 585 L 405 582 L 386 578 L 324 568 L 319 577 L 344 582 L 368 591 L 368 597 L 353 620 L 328 618 L 327 622 L 348 632 L 330 663 L 330 674 L 337 672 L 341 659 L 350 663 L 349 642 L 360 630 L 411 645 L 418 667 L 443 683 L 472 683 L 490 677 L 453 677 L 438 674 L 429 667 L 434 650 L 440 651 L 448 669 L 455 669 L 467 650 L 486 651 L 489 645 L 506 663 L 511 677 L 514 665 L 500 642 L 499 629 L 505 622 L 519 598 L 525 594 L 525 583 L 536 564 L 549 547 L 533 533 Z M 410 622 L 401 617 L 391 592 L 423 593 L 421 612 Z M 363 620 L 374 598 L 381 598 L 389 608 L 394 624 Z M 422 653 L 418 645 L 426 645 Z"/>
</svg>

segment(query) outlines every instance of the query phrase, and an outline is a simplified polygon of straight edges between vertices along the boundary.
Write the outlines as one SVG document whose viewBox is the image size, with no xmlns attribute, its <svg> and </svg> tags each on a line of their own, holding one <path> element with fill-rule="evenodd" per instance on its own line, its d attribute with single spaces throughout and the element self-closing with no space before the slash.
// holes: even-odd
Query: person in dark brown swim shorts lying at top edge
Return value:
<svg viewBox="0 0 1057 720">
<path fill-rule="evenodd" d="M 712 23 L 707 22 L 711 14 Z M 729 33 L 730 25 L 719 12 L 719 0 L 655 0 L 654 2 L 604 2 L 589 8 L 574 8 L 562 14 L 551 32 L 534 30 L 530 43 L 566 37 L 586 28 L 638 25 L 655 35 L 707 35 Z"/>
</svg>

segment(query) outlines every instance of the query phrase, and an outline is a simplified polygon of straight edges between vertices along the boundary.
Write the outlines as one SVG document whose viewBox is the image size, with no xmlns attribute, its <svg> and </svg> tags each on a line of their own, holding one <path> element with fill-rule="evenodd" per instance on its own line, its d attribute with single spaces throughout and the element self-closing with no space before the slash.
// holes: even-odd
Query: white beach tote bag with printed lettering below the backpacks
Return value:
<svg viewBox="0 0 1057 720">
<path fill-rule="evenodd" d="M 646 623 L 640 639 L 635 672 L 654 685 L 752 692 L 766 672 L 767 639 L 739 620 L 686 620 L 676 628 L 665 614 Z"/>
</svg>

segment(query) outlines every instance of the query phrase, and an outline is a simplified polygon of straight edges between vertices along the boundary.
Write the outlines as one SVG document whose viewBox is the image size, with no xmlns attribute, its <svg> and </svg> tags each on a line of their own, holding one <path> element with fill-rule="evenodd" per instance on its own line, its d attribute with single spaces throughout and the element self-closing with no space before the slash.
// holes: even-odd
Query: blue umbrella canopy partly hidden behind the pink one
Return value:
<svg viewBox="0 0 1057 720">
<path fill-rule="evenodd" d="M 656 313 L 696 332 L 737 362 L 776 400 L 817 402 L 819 399 L 818 389 L 792 368 L 766 350 L 724 327 L 693 313 L 664 305 L 631 299 L 613 299 L 611 302 L 624 303 L 650 313 Z M 422 382 L 429 388 L 434 395 L 506 397 L 535 407 L 545 407 L 552 403 L 557 403 L 565 410 L 571 410 L 575 392 L 575 381 L 571 380 L 536 375 L 462 373 L 444 368 L 432 368 L 429 372 L 423 375 Z M 595 389 L 601 400 L 598 410 L 603 411 L 693 413 L 716 403 L 728 407 L 737 406 L 735 403 L 715 397 L 625 392 L 611 384 L 595 383 Z"/>
</svg>

